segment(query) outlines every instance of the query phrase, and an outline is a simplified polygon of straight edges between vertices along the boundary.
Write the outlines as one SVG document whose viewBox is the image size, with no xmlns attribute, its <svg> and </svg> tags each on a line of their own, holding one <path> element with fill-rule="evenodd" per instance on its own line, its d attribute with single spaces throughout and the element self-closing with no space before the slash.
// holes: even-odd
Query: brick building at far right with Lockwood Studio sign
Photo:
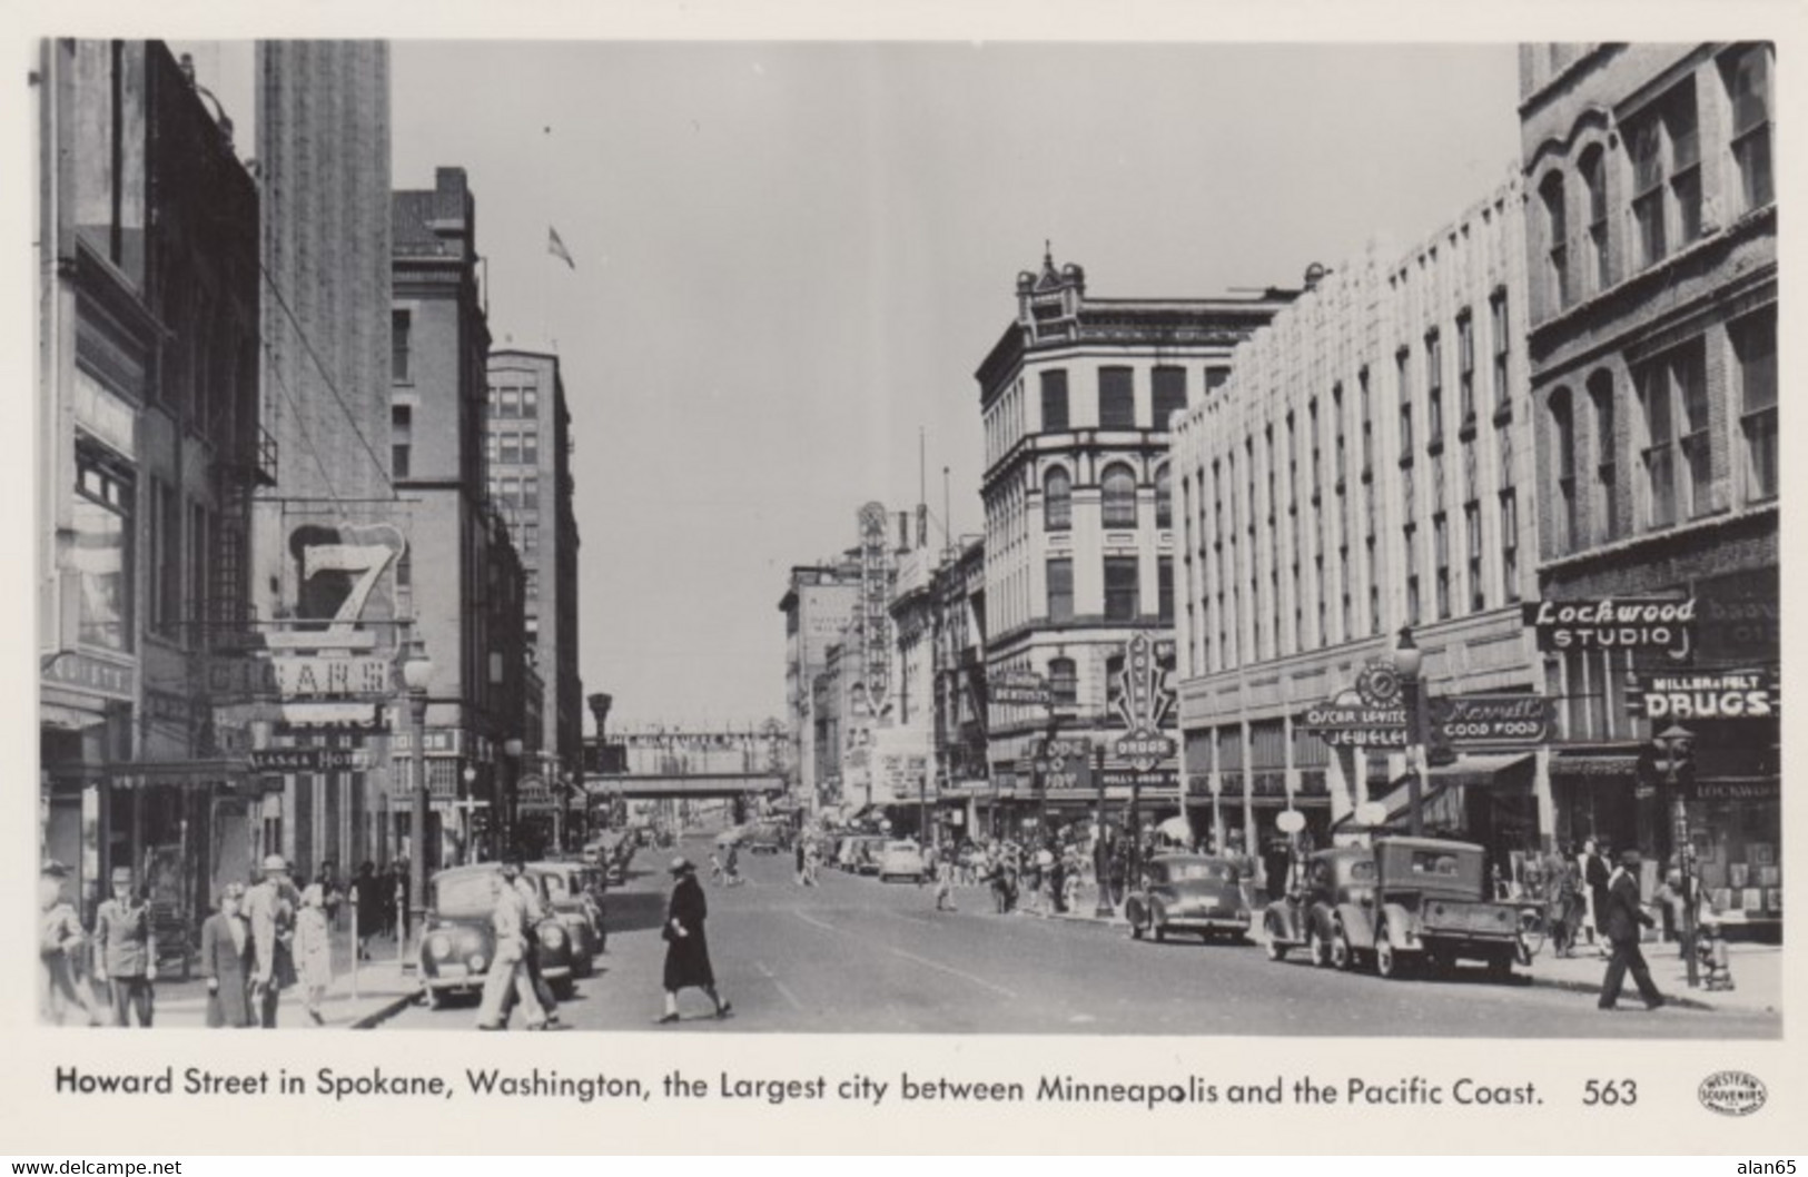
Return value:
<svg viewBox="0 0 1808 1177">
<path fill-rule="evenodd" d="M 1774 698 L 1774 71 L 1768 43 L 1521 49 L 1539 595 L 1694 602 L 1685 638 L 1551 653 L 1557 835 L 1672 855 L 1651 739 L 1680 723 L 1701 879 L 1730 918 L 1775 926 L 1774 705 L 1730 714 L 1714 691 L 1681 689 L 1683 711 L 1629 714 L 1654 678 L 1730 674 Z"/>
</svg>

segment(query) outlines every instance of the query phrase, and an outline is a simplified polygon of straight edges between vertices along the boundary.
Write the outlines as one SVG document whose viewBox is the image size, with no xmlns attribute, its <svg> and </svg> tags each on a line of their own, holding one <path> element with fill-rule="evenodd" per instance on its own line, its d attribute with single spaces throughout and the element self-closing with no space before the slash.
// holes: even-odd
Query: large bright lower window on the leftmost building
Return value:
<svg viewBox="0 0 1808 1177">
<path fill-rule="evenodd" d="M 96 448 L 76 447 L 69 568 L 80 586 L 83 645 L 132 649 L 134 476 Z"/>
</svg>

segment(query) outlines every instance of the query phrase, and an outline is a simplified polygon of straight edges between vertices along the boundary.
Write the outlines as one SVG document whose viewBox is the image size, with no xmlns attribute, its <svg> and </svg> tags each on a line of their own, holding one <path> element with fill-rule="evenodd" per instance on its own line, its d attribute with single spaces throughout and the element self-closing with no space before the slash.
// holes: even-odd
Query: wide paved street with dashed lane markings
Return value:
<svg viewBox="0 0 1808 1177">
<path fill-rule="evenodd" d="M 709 843 L 683 852 L 707 862 Z M 651 1029 L 660 1012 L 667 853 L 644 850 L 609 895 L 609 951 L 560 1005 L 577 1029 Z M 933 888 L 823 871 L 797 888 L 790 855 L 741 855 L 747 884 L 707 886 L 716 978 L 734 1003 L 680 994 L 685 1020 L 665 1032 L 982 1032 L 982 1034 L 1360 1034 L 1475 1038 L 1768 1038 L 1774 1016 L 1667 1007 L 1629 993 L 1606 1014 L 1591 994 L 1372 975 L 1269 962 L 1257 946 L 1179 938 L 1134 942 L 1123 927 L 993 913 L 982 888 L 937 913 Z M 1470 969 L 1464 969 L 1470 973 Z M 385 1029 L 465 1029 L 474 1007 L 403 1011 Z"/>
</svg>

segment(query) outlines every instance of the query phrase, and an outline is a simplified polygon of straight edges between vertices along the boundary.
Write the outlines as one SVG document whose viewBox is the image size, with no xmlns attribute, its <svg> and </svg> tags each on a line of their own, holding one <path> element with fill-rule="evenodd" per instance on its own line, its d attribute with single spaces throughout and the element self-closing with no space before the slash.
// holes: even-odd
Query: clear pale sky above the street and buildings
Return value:
<svg viewBox="0 0 1808 1177">
<path fill-rule="evenodd" d="M 195 56 L 250 103 L 248 54 Z M 1515 63 L 1506 43 L 398 42 L 392 183 L 468 172 L 494 345 L 560 354 L 586 692 L 615 696 L 611 723 L 739 723 L 783 714 L 788 570 L 852 546 L 862 503 L 918 501 L 918 430 L 937 537 L 980 532 L 973 372 L 1045 240 L 1121 298 L 1405 250 L 1513 170 Z"/>
</svg>

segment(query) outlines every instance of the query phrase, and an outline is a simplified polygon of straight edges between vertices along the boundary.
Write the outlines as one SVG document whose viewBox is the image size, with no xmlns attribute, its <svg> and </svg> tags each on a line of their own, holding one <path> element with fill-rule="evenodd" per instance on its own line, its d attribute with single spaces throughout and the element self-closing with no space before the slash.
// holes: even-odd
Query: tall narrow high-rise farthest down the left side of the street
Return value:
<svg viewBox="0 0 1808 1177">
<path fill-rule="evenodd" d="M 571 508 L 571 410 L 559 356 L 490 353 L 485 427 L 490 499 L 501 508 L 526 570 L 528 658 L 546 683 L 524 765 L 526 812 L 562 835 L 582 777 L 584 683 L 579 678 L 577 515 Z M 551 839 L 548 839 L 551 841 Z"/>
</svg>

